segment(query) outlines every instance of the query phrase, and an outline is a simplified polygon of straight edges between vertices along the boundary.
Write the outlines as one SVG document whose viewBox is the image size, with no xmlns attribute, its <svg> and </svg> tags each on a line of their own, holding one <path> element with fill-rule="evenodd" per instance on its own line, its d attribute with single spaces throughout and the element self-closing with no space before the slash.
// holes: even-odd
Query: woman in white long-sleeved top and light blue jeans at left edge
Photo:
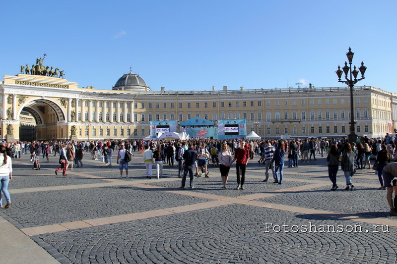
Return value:
<svg viewBox="0 0 397 264">
<path fill-rule="evenodd" d="M 12 162 L 11 157 L 7 156 L 5 146 L 0 146 L 0 208 L 2 208 L 2 197 L 1 193 L 4 194 L 5 201 L 7 204 L 4 208 L 11 206 L 11 197 L 8 192 L 8 182 L 12 179 Z"/>
</svg>

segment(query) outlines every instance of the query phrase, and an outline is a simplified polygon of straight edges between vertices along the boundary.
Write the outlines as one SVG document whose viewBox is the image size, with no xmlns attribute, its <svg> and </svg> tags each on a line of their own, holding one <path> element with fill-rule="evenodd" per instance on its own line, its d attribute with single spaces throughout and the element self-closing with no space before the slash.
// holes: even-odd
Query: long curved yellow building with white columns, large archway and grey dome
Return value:
<svg viewBox="0 0 397 264">
<path fill-rule="evenodd" d="M 143 79 L 124 74 L 113 90 L 79 88 L 64 78 L 32 74 L 4 75 L 0 85 L 1 137 L 21 137 L 22 113 L 36 121 L 38 140 L 144 138 L 150 121 L 247 119 L 247 133 L 263 138 L 344 137 L 349 134 L 348 87 L 208 91 L 151 91 Z M 372 87 L 354 87 L 356 134 L 371 137 L 393 133 L 396 94 Z M 178 127 L 178 132 L 182 128 Z"/>
</svg>

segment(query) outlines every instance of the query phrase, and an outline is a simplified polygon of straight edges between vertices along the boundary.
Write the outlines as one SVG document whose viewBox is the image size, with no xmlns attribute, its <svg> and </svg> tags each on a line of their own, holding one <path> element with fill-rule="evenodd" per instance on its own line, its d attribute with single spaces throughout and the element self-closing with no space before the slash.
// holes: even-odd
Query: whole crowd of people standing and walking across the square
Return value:
<svg viewBox="0 0 397 264">
<path fill-rule="evenodd" d="M 265 179 L 269 180 L 269 171 L 272 173 L 273 184 L 282 184 L 284 159 L 288 158 L 288 167 L 297 168 L 300 164 L 316 162 L 317 157 L 327 155 L 328 173 L 332 183 L 331 191 L 335 191 L 336 175 L 339 166 L 346 179 L 344 190 L 355 189 L 351 177 L 357 170 L 374 169 L 380 182 L 380 190 L 387 189 L 387 200 L 391 213 L 396 214 L 397 197 L 393 202 L 393 191 L 397 187 L 393 179 L 397 176 L 397 162 L 394 161 L 397 151 L 397 139 L 387 134 L 385 138 L 368 139 L 358 138 L 355 143 L 348 143 L 341 139 L 287 139 L 287 140 L 212 140 L 192 139 L 188 141 L 156 141 L 156 140 L 131 140 L 131 141 L 33 141 L 14 142 L 0 146 L 0 178 L 1 190 L 6 198 L 6 206 L 10 206 L 7 193 L 8 181 L 12 178 L 12 158 L 21 158 L 29 155 L 33 163 L 32 169 L 39 170 L 40 158 L 49 162 L 49 155 L 59 154 L 59 167 L 55 170 L 58 174 L 66 176 L 68 169 L 73 169 L 73 164 L 78 168 L 83 166 L 82 159 L 86 153 L 91 154 L 93 160 L 100 158 L 105 166 L 112 166 L 112 156 L 117 151 L 117 164 L 120 177 L 125 170 L 129 178 L 129 161 L 135 152 L 142 155 L 142 163 L 146 168 L 146 177 L 152 178 L 152 166 L 156 169 L 156 178 L 163 177 L 163 165 L 178 166 L 178 177 L 182 178 L 181 188 L 186 185 L 189 174 L 189 187 L 194 189 L 194 177 L 209 177 L 208 161 L 219 162 L 219 173 L 222 188 L 227 189 L 230 167 L 236 162 L 237 190 L 245 189 L 245 172 L 249 160 L 259 157 L 258 162 L 265 165 Z M 3 152 L 2 152 L 3 150 Z M 371 167 L 371 156 L 375 157 L 375 164 Z M 7 158 L 9 157 L 9 158 Z M 389 164 L 390 163 L 390 164 Z M 4 166 L 4 167 L 3 167 Z M 70 167 L 70 168 L 69 168 Z M 9 170 L 5 172 L 6 170 Z M 200 173 L 201 172 L 201 173 Z M 385 176 L 386 175 L 386 176 Z M 386 179 L 385 179 L 386 177 Z M 8 180 L 8 181 L 7 181 Z M 0 207 L 2 207 L 0 199 Z"/>
</svg>

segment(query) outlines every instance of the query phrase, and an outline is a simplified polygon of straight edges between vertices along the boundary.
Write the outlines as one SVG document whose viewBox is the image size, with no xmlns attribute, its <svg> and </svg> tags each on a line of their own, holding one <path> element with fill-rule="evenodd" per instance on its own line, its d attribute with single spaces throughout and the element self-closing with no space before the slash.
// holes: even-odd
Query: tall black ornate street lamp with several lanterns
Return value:
<svg viewBox="0 0 397 264">
<path fill-rule="evenodd" d="M 338 76 L 338 82 L 347 84 L 350 87 L 350 134 L 347 136 L 349 143 L 356 142 L 357 140 L 357 135 L 355 133 L 355 125 L 354 125 L 355 122 L 354 122 L 353 87 L 358 81 L 365 79 L 364 73 L 365 70 L 367 69 L 367 67 L 365 67 L 364 63 L 361 61 L 361 66 L 358 68 L 358 70 L 361 73 L 361 78 L 357 79 L 357 75 L 359 71 L 356 69 L 356 65 L 354 65 L 353 70 L 351 68 L 353 55 L 354 53 L 351 52 L 351 49 L 349 47 L 349 52 L 346 53 L 347 60 L 349 61 L 349 65 L 347 65 L 347 62 L 345 61 L 343 68 L 340 69 L 340 65 L 338 65 L 338 69 L 335 71 L 336 75 Z M 341 80 L 343 73 L 346 81 Z M 350 79 L 347 78 L 348 76 L 350 77 Z"/>
</svg>

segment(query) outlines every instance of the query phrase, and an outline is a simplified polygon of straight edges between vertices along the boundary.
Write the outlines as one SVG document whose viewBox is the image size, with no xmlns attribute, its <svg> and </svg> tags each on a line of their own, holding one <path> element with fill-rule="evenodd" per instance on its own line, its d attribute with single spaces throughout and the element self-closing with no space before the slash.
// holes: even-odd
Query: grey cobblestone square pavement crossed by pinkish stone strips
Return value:
<svg viewBox="0 0 397 264">
<path fill-rule="evenodd" d="M 133 157 L 130 178 L 92 159 L 64 177 L 54 173 L 58 157 L 32 170 L 22 156 L 0 216 L 60 263 L 397 262 L 397 217 L 373 170 L 357 171 L 355 191 L 343 190 L 340 171 L 331 192 L 325 158 L 285 167 L 282 185 L 263 182 L 255 158 L 245 190 L 235 190 L 235 167 L 223 189 L 211 166 L 209 178 L 181 190 L 177 166 L 149 180 L 141 159 Z"/>
</svg>

